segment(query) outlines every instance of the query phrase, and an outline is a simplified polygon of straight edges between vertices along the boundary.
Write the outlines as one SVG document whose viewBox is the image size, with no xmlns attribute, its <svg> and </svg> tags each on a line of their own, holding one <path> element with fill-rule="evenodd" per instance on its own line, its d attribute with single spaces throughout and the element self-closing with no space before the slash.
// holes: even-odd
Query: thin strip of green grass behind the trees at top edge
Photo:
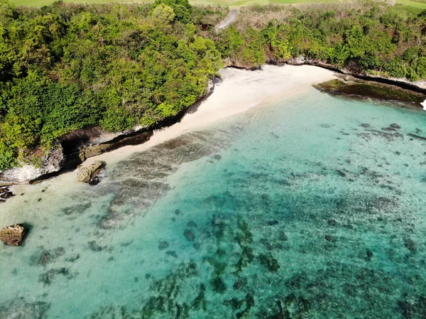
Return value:
<svg viewBox="0 0 426 319">
<path fill-rule="evenodd" d="M 52 4 L 53 0 L 9 0 L 17 6 L 45 6 Z M 337 2 L 338 0 L 190 0 L 191 4 L 222 4 L 227 6 L 246 6 L 250 4 L 309 4 Z M 129 2 L 151 2 L 140 0 L 65 0 L 65 2 L 106 4 L 110 2 L 129 3 Z M 397 0 L 402 4 L 402 8 L 408 11 L 420 12 L 426 10 L 426 0 Z"/>
</svg>

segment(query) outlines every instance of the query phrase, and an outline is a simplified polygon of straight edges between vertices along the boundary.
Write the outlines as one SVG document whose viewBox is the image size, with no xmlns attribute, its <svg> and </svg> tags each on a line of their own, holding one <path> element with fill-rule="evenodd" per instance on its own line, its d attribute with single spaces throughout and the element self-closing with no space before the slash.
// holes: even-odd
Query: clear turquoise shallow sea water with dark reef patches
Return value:
<svg viewBox="0 0 426 319">
<path fill-rule="evenodd" d="M 0 318 L 425 318 L 426 141 L 408 134 L 425 114 L 312 89 L 95 187 L 27 188 L 1 207 L 32 227 L 0 247 Z"/>
</svg>

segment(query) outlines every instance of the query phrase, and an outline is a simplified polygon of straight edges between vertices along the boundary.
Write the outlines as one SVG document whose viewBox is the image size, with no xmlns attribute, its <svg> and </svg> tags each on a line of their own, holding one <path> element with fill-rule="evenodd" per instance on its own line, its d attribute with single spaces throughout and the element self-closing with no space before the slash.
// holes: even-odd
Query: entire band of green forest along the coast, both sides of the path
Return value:
<svg viewBox="0 0 426 319">
<path fill-rule="evenodd" d="M 0 171 L 38 165 L 77 129 L 149 127 L 178 114 L 222 61 L 253 68 L 304 56 L 426 79 L 426 11 L 371 1 L 251 6 L 216 33 L 227 12 L 187 0 L 41 9 L 0 0 Z"/>
</svg>

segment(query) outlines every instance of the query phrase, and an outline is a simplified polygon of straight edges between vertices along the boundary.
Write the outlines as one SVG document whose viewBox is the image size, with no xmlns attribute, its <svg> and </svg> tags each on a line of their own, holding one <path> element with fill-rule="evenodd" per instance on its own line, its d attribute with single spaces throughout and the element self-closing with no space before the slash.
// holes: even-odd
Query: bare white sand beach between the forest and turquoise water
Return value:
<svg viewBox="0 0 426 319">
<path fill-rule="evenodd" d="M 251 107 L 260 107 L 285 97 L 309 90 L 312 85 L 332 80 L 334 72 L 310 65 L 282 67 L 265 65 L 262 70 L 247 71 L 234 68 L 221 70 L 222 82 L 214 87 L 214 92 L 195 110 L 183 117 L 182 121 L 168 128 L 155 131 L 149 141 L 137 146 L 124 146 L 116 151 L 87 159 L 83 165 L 94 160 L 119 161 L 131 153 L 168 141 L 177 136 L 200 129 L 214 121 L 245 112 Z"/>
</svg>

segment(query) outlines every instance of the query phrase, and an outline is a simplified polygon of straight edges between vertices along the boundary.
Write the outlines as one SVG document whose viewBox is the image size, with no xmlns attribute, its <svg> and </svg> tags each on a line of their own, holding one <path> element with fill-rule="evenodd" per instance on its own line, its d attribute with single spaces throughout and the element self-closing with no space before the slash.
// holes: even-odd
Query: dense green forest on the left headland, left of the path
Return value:
<svg viewBox="0 0 426 319">
<path fill-rule="evenodd" d="M 0 170 L 67 132 L 150 126 L 189 107 L 221 67 L 187 0 L 38 9 L 0 4 Z"/>
</svg>

